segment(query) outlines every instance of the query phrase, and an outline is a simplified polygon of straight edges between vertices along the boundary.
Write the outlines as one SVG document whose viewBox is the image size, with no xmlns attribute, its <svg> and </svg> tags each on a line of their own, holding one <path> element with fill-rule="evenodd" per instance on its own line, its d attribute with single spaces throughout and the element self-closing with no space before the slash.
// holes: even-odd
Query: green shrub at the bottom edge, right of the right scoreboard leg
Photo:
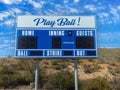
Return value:
<svg viewBox="0 0 120 90">
<path fill-rule="evenodd" d="M 105 78 L 95 78 L 80 81 L 79 84 L 80 90 L 112 90 L 110 82 Z"/>
</svg>

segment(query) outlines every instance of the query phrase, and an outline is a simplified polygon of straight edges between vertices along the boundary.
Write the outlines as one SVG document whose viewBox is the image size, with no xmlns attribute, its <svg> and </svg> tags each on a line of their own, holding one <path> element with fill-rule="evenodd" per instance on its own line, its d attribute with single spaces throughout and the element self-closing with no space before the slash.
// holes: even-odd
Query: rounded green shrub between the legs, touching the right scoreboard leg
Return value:
<svg viewBox="0 0 120 90">
<path fill-rule="evenodd" d="M 74 90 L 74 76 L 68 71 L 50 75 L 45 88 L 48 90 Z"/>
</svg>

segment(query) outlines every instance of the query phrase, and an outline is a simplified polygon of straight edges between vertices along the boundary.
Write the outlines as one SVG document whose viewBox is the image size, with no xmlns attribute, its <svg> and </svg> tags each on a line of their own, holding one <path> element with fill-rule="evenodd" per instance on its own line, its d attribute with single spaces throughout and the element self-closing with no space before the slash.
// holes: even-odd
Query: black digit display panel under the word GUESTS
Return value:
<svg viewBox="0 0 120 90">
<path fill-rule="evenodd" d="M 77 49 L 94 49 L 94 37 L 93 36 L 79 36 L 76 37 L 76 48 Z"/>
</svg>

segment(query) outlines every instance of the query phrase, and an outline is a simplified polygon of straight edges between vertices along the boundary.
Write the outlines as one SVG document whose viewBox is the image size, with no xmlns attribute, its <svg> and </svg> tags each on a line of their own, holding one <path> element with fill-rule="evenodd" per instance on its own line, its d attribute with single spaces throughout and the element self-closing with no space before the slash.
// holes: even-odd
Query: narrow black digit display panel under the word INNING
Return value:
<svg viewBox="0 0 120 90">
<path fill-rule="evenodd" d="M 52 48 L 53 49 L 61 48 L 61 37 L 52 37 Z"/>
</svg>

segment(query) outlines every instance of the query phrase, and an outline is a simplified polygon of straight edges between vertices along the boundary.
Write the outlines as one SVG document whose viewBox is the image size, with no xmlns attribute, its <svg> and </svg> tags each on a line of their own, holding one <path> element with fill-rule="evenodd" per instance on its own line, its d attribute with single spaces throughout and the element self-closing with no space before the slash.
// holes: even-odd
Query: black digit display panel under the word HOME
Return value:
<svg viewBox="0 0 120 90">
<path fill-rule="evenodd" d="M 35 36 L 18 37 L 18 49 L 37 49 L 37 37 Z"/>
</svg>

